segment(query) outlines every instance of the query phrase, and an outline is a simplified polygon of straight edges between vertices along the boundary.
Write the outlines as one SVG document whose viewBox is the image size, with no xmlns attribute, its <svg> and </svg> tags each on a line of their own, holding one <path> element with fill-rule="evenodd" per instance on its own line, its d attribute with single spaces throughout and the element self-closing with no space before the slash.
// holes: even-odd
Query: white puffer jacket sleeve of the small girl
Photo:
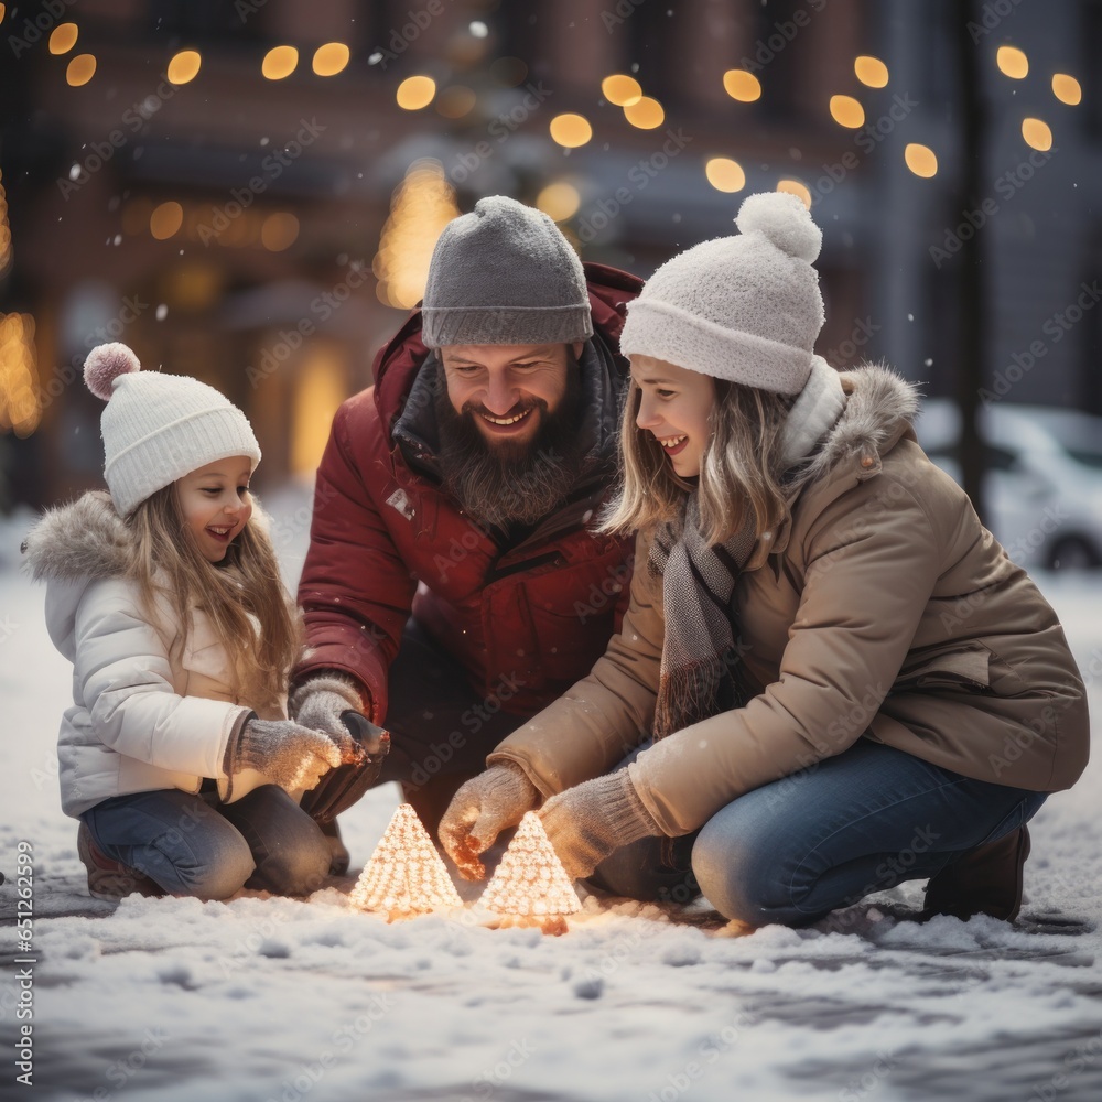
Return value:
<svg viewBox="0 0 1102 1102">
<path fill-rule="evenodd" d="M 137 607 L 133 586 L 93 583 L 76 613 L 75 684 L 96 737 L 173 773 L 222 778 L 226 744 L 250 710 L 181 696 L 165 641 Z"/>
</svg>

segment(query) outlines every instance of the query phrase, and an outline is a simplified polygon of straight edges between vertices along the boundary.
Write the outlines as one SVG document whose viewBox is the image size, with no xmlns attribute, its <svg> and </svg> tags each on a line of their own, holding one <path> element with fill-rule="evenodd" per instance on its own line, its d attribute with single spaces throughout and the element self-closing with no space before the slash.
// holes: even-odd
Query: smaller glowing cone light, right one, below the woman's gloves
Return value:
<svg viewBox="0 0 1102 1102">
<path fill-rule="evenodd" d="M 582 909 L 534 811 L 520 820 L 479 903 L 500 915 L 503 926 L 539 926 L 544 933 L 565 933 L 563 916 Z"/>
</svg>

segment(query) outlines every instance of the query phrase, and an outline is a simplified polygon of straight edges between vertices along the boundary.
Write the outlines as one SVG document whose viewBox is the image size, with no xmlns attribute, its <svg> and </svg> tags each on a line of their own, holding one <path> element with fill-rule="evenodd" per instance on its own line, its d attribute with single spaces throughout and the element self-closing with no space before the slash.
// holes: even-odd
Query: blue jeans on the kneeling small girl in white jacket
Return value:
<svg viewBox="0 0 1102 1102">
<path fill-rule="evenodd" d="M 171 895 L 226 899 L 242 887 L 305 895 L 329 867 L 317 824 L 274 785 L 234 803 L 174 788 L 115 796 L 80 818 L 108 857 Z"/>
</svg>

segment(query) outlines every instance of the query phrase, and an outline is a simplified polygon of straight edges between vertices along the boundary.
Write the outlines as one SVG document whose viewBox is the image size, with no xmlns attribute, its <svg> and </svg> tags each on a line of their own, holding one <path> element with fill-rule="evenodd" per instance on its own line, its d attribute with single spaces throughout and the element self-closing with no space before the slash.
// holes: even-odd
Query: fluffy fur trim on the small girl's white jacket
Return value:
<svg viewBox="0 0 1102 1102">
<path fill-rule="evenodd" d="M 45 512 L 23 541 L 34 581 L 98 581 L 126 573 L 132 547 L 130 529 L 104 490 L 89 490 Z"/>
</svg>

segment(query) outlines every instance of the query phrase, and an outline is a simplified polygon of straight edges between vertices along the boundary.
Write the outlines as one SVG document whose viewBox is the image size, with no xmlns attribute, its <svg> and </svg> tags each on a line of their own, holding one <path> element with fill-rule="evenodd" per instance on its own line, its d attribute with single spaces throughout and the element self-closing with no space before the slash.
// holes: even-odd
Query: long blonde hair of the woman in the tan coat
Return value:
<svg viewBox="0 0 1102 1102">
<path fill-rule="evenodd" d="M 735 536 L 747 509 L 754 518 L 755 539 L 787 516 L 778 442 L 793 396 L 716 379 L 709 417 L 711 436 L 695 486 L 674 474 L 662 445 L 636 424 L 640 401 L 641 391 L 633 379 L 620 425 L 620 490 L 602 517 L 599 531 L 652 532 L 680 517 L 682 503 L 693 489 L 701 532 L 710 543 Z"/>
</svg>

